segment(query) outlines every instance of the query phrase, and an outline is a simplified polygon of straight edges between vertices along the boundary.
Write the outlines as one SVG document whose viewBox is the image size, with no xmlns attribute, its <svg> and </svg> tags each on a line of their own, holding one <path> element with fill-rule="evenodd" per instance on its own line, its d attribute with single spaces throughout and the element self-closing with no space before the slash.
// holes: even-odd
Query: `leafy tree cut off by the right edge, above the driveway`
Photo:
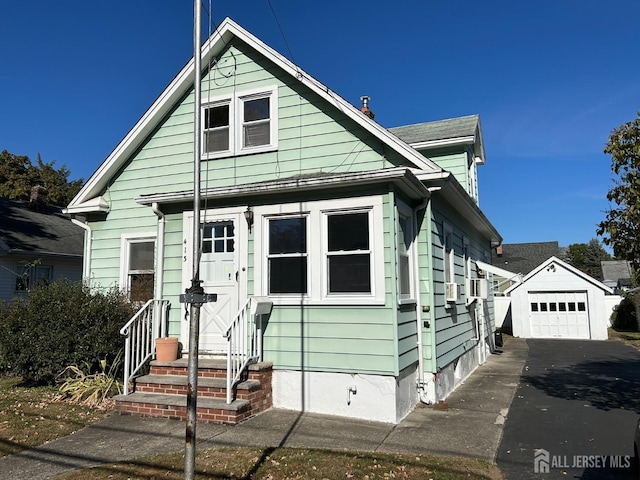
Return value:
<svg viewBox="0 0 640 480">
<path fill-rule="evenodd" d="M 611 155 L 611 170 L 618 177 L 607 193 L 613 205 L 598 225 L 597 234 L 613 247 L 616 258 L 640 271 L 640 112 L 614 129 L 604 153 Z"/>
</svg>

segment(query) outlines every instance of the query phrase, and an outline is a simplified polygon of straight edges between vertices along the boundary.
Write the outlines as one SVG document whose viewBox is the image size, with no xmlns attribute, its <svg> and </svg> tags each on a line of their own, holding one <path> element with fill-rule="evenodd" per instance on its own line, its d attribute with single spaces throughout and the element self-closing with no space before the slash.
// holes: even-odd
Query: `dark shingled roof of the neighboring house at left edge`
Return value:
<svg viewBox="0 0 640 480">
<path fill-rule="evenodd" d="M 27 202 L 0 198 L 0 255 L 81 257 L 84 230 L 56 207 L 34 210 Z"/>
</svg>

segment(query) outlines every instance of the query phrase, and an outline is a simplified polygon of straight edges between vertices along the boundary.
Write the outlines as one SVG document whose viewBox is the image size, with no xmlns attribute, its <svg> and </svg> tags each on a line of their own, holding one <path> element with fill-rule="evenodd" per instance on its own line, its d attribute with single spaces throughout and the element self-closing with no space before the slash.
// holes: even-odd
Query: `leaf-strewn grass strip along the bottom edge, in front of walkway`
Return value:
<svg viewBox="0 0 640 480">
<path fill-rule="evenodd" d="M 350 453 L 295 448 L 209 449 L 196 455 L 198 479 L 492 479 L 495 465 L 468 458 Z M 184 478 L 182 453 L 108 464 L 56 477 L 57 480 L 133 480 Z"/>
</svg>

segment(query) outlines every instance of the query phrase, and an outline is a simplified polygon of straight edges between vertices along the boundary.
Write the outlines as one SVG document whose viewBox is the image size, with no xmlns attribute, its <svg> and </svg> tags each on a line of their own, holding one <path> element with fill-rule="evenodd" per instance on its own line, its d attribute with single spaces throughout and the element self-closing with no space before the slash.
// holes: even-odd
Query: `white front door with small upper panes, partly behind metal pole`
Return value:
<svg viewBox="0 0 640 480">
<path fill-rule="evenodd" d="M 240 304 L 246 299 L 247 285 L 247 224 L 241 209 L 204 212 L 200 219 L 201 256 L 200 280 L 205 293 L 215 293 L 216 302 L 205 303 L 200 310 L 200 345 L 202 354 L 226 353 L 224 332 Z M 185 213 L 183 283 L 191 285 L 193 244 L 193 213 Z M 182 338 L 188 343 L 188 322 Z"/>
</svg>

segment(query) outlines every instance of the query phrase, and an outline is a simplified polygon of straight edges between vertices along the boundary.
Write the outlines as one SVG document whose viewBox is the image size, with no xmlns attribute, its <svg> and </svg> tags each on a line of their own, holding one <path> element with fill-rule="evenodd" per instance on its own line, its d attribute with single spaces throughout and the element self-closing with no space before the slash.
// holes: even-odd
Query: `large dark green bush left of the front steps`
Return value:
<svg viewBox="0 0 640 480">
<path fill-rule="evenodd" d="M 122 349 L 119 331 L 133 313 L 116 290 L 91 292 L 67 280 L 37 285 L 0 305 L 2 367 L 28 385 L 52 385 L 68 365 L 98 371 Z"/>
</svg>

